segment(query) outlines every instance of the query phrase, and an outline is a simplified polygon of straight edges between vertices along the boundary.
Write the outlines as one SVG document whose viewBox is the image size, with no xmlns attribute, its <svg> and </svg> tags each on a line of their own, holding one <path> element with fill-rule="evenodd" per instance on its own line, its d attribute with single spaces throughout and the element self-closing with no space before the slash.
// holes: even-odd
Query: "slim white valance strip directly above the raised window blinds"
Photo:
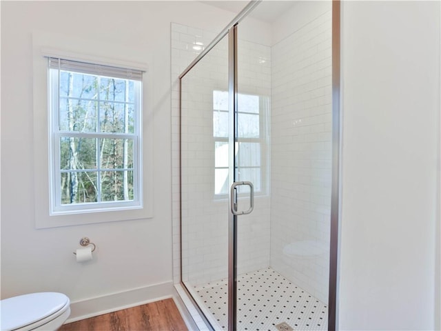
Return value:
<svg viewBox="0 0 441 331">
<path fill-rule="evenodd" d="M 76 52 L 70 52 L 69 50 L 59 50 L 56 48 L 42 47 L 40 49 L 43 57 L 58 57 L 60 59 L 66 59 L 71 61 L 91 62 L 101 64 L 103 66 L 120 66 L 122 68 L 141 70 L 146 72 L 148 70 L 147 63 L 140 63 L 134 61 L 125 61 L 121 59 L 110 59 L 106 57 L 97 57 L 92 54 L 80 54 Z"/>
</svg>

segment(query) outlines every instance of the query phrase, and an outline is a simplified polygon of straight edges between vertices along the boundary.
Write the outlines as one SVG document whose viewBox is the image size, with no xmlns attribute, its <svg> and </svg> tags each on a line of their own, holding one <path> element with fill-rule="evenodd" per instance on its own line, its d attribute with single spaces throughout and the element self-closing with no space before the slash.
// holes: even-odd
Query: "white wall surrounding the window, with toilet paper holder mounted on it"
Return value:
<svg viewBox="0 0 441 331">
<path fill-rule="evenodd" d="M 170 22 L 197 21 L 216 31 L 233 17 L 196 1 L 1 2 L 2 298 L 61 291 L 83 301 L 167 282 L 171 290 Z M 147 97 L 153 98 L 154 117 L 145 119 L 154 121 L 153 219 L 34 228 L 32 155 L 34 148 L 46 148 L 32 141 L 35 30 L 115 43 L 153 59 L 148 64 L 154 84 Z M 98 248 L 93 261 L 79 264 L 72 252 L 84 236 Z"/>
</svg>

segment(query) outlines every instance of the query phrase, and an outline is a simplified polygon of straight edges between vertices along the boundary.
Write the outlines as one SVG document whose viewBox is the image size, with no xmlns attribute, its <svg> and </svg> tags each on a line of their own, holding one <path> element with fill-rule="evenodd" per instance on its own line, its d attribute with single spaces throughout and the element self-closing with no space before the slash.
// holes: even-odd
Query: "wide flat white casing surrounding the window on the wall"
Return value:
<svg viewBox="0 0 441 331">
<path fill-rule="evenodd" d="M 82 52 L 84 51 L 84 53 Z M 59 57 L 72 61 L 143 71 L 142 78 L 142 208 L 92 210 L 50 214 L 50 162 L 48 121 L 48 60 Z M 114 221 L 147 220 L 154 217 L 154 115 L 153 83 L 147 63 L 153 54 L 144 48 L 130 48 L 117 41 L 76 38 L 54 32 L 32 32 L 32 87 L 34 141 L 34 224 L 37 229 Z"/>
</svg>

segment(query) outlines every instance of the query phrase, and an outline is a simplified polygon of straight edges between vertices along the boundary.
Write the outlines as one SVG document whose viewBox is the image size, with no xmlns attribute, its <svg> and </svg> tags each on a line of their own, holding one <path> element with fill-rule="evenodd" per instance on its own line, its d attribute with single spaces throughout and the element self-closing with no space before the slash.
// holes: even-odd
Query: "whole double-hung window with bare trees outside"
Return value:
<svg viewBox="0 0 441 331">
<path fill-rule="evenodd" d="M 141 208 L 142 72 L 48 63 L 52 214 Z"/>
</svg>

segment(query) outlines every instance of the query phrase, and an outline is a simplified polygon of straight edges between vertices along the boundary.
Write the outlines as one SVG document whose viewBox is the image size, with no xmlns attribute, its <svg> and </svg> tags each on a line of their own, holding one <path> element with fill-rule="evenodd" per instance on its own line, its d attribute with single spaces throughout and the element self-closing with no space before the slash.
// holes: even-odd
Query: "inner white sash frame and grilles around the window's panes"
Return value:
<svg viewBox="0 0 441 331">
<path fill-rule="evenodd" d="M 111 210 L 125 210 L 131 208 L 142 208 L 142 106 L 141 106 L 141 88 L 142 79 L 134 80 L 134 132 L 132 134 L 126 133 L 107 133 L 100 132 L 70 132 L 63 131 L 59 128 L 59 77 L 61 70 L 76 72 L 80 74 L 92 74 L 95 77 L 107 77 L 121 79 L 119 76 L 124 76 L 119 74 L 121 72 L 127 72 L 125 68 L 115 68 L 109 66 L 99 66 L 96 63 L 83 63 L 76 61 L 65 61 L 72 66 L 69 69 L 63 69 L 60 66 L 62 59 L 48 58 L 48 71 L 49 71 L 49 128 L 50 128 L 50 139 L 49 139 L 49 162 L 50 162 L 50 214 L 69 214 L 69 213 L 83 213 L 83 212 L 98 212 L 98 211 L 111 211 Z M 55 64 L 54 64 L 55 63 Z M 57 67 L 58 63 L 58 67 Z M 84 68 L 83 68 L 84 67 Z M 105 71 L 106 75 L 101 74 Z M 142 72 L 138 72 L 138 75 L 142 77 Z M 112 76 L 112 77 L 111 77 Z M 130 76 L 130 74 L 127 74 Z M 99 84 L 101 85 L 101 84 Z M 100 102 L 99 94 L 98 99 Z M 99 117 L 97 117 L 97 126 L 99 126 Z M 133 174 L 134 174 L 134 199 L 130 201 L 99 201 L 94 203 L 72 203 L 72 204 L 62 204 L 61 203 L 61 170 L 60 166 L 60 139 L 61 137 L 79 137 L 79 138 L 92 138 L 92 139 L 132 139 L 133 140 Z M 99 163 L 96 164 L 96 175 L 97 175 L 97 186 L 98 186 L 98 198 L 101 199 L 101 190 L 99 185 L 99 174 L 101 172 L 101 167 Z M 124 169 L 117 169 L 124 170 Z"/>
</svg>

